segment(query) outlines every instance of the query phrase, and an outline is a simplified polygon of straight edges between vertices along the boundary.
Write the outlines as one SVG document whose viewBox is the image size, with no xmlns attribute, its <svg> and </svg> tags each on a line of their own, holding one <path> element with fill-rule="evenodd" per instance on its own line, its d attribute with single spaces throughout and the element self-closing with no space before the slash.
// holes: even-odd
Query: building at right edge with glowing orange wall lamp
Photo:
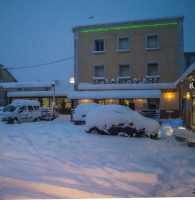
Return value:
<svg viewBox="0 0 195 200">
<path fill-rule="evenodd" d="M 176 81 L 180 90 L 180 110 L 184 125 L 195 130 L 195 62 Z"/>
</svg>

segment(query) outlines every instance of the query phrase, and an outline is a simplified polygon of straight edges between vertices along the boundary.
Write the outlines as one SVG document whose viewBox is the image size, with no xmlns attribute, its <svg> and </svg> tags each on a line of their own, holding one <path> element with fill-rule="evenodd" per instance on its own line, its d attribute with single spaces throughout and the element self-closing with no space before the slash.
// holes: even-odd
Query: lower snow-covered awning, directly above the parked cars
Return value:
<svg viewBox="0 0 195 200">
<path fill-rule="evenodd" d="M 74 91 L 68 95 L 69 99 L 150 99 L 160 97 L 160 90 Z"/>
</svg>

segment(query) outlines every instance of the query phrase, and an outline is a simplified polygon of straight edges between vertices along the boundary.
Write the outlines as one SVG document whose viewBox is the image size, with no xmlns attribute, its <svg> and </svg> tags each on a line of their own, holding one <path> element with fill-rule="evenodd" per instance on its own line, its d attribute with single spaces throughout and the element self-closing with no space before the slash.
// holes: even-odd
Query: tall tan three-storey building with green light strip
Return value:
<svg viewBox="0 0 195 200">
<path fill-rule="evenodd" d="M 119 103 L 163 118 L 179 116 L 174 82 L 185 70 L 183 17 L 77 26 L 72 31 L 75 92 L 68 97 L 73 107 L 91 101 Z"/>
</svg>

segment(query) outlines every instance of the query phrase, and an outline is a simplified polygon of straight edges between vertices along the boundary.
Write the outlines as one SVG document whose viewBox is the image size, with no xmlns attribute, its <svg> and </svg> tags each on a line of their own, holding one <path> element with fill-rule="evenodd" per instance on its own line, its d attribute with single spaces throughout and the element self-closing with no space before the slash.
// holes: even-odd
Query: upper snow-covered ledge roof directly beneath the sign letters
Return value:
<svg viewBox="0 0 195 200">
<path fill-rule="evenodd" d="M 174 83 L 91 84 L 80 83 L 79 90 L 153 90 L 176 89 Z"/>
</svg>

